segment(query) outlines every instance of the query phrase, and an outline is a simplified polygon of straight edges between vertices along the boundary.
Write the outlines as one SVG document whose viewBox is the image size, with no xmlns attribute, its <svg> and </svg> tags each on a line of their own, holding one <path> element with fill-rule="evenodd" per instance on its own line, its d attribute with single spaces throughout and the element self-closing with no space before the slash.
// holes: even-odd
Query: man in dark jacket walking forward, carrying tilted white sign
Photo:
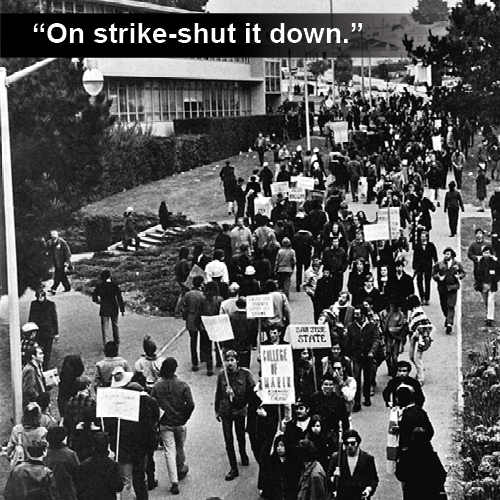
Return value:
<svg viewBox="0 0 500 500">
<path fill-rule="evenodd" d="M 239 366 L 239 356 L 236 351 L 226 351 L 224 362 L 224 369 L 217 377 L 215 416 L 219 422 L 222 422 L 222 432 L 231 467 L 226 474 L 226 481 L 232 481 L 240 475 L 234 451 L 233 426 L 238 441 L 241 465 L 247 466 L 249 462 L 245 442 L 245 421 L 248 403 L 253 398 L 255 382 L 252 372 Z"/>
</svg>

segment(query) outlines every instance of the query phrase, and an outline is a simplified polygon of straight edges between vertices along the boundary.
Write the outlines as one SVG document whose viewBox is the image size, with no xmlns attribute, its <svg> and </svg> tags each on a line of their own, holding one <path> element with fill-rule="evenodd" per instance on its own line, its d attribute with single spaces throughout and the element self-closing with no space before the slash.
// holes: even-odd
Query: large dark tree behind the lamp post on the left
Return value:
<svg viewBox="0 0 500 500">
<path fill-rule="evenodd" d="M 0 59 L 12 74 L 35 59 Z M 9 87 L 18 282 L 22 294 L 46 277 L 40 238 L 92 197 L 112 120 L 104 97 L 90 104 L 83 67 L 58 59 Z"/>
</svg>

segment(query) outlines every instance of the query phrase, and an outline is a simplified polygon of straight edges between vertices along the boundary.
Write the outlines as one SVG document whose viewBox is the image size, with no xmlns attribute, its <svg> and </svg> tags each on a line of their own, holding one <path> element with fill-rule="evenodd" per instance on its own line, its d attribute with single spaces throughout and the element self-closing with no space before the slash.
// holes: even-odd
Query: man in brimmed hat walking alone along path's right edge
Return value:
<svg viewBox="0 0 500 500">
<path fill-rule="evenodd" d="M 462 264 L 456 260 L 453 248 L 445 248 L 443 260 L 434 264 L 432 278 L 437 282 L 441 311 L 445 316 L 446 333 L 451 333 L 455 320 L 455 305 L 460 281 L 465 276 Z"/>
</svg>

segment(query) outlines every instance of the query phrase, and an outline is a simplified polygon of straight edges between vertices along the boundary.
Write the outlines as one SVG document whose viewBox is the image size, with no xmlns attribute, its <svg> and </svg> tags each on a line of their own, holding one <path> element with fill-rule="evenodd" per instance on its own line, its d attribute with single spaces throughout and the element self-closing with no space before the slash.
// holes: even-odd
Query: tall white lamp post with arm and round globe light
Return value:
<svg viewBox="0 0 500 500">
<path fill-rule="evenodd" d="M 6 245 L 6 261 L 7 261 L 7 290 L 8 290 L 8 314 L 9 314 L 9 342 L 10 342 L 10 365 L 11 365 L 11 383 L 13 395 L 13 410 L 14 423 L 21 422 L 23 411 L 22 399 L 22 365 L 21 365 L 21 336 L 20 336 L 20 319 L 19 319 L 19 288 L 17 283 L 17 253 L 16 253 L 16 231 L 14 224 L 14 194 L 12 183 L 12 161 L 10 149 L 10 133 L 9 133 L 9 107 L 8 93 L 9 85 L 21 80 L 22 78 L 37 72 L 47 64 L 55 61 L 57 58 L 52 57 L 39 61 L 27 68 L 24 68 L 10 76 L 7 76 L 7 69 L 0 68 L 0 127 L 1 127 L 1 142 L 2 142 L 2 187 L 3 187 L 3 202 L 5 216 L 5 245 Z M 85 74 L 88 72 L 87 70 Z M 84 87 L 87 92 L 86 84 L 95 92 L 97 89 L 96 82 L 100 78 L 100 88 L 94 96 L 102 89 L 103 77 L 96 69 L 94 73 L 87 75 L 88 81 Z M 96 73 L 97 72 L 97 73 Z M 100 74 L 100 77 L 99 77 Z M 91 94 L 92 95 L 92 94 Z"/>
</svg>

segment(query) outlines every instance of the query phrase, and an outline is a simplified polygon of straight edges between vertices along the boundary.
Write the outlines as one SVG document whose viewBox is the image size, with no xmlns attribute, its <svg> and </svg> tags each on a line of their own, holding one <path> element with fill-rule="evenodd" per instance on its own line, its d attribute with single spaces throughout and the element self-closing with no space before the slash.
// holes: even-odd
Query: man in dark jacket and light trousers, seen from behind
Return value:
<svg viewBox="0 0 500 500">
<path fill-rule="evenodd" d="M 161 365 L 160 379 L 151 392 L 151 396 L 158 401 L 164 412 L 160 418 L 160 434 L 172 483 L 170 491 L 174 495 L 179 494 L 179 481 L 182 481 L 189 471 L 184 443 L 186 424 L 195 407 L 189 385 L 175 375 L 177 366 L 175 358 L 166 358 Z"/>
</svg>

